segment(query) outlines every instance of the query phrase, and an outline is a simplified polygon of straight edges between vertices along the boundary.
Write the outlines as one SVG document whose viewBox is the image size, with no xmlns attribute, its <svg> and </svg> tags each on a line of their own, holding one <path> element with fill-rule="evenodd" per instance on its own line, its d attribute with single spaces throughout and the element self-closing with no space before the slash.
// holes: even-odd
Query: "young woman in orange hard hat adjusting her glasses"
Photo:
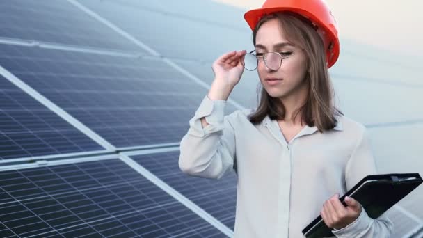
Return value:
<svg viewBox="0 0 423 238">
<path fill-rule="evenodd" d="M 340 44 L 324 0 L 267 0 L 244 16 L 255 52 L 213 63 L 215 79 L 189 121 L 179 167 L 219 179 L 236 168 L 235 237 L 303 237 L 321 214 L 336 237 L 389 237 L 392 222 L 338 199 L 376 168 L 366 129 L 333 103 L 328 68 Z M 224 116 L 244 68 L 257 69 L 257 109 Z M 359 96 L 359 95 L 358 95 Z"/>
</svg>

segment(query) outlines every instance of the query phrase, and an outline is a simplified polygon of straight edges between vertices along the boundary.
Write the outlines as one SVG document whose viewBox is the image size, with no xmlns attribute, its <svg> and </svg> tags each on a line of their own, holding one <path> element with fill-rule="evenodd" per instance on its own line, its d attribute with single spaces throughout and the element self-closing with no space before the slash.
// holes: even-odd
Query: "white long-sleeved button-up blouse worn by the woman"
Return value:
<svg viewBox="0 0 423 238">
<path fill-rule="evenodd" d="M 319 216 L 326 200 L 342 196 L 363 177 L 376 174 L 366 129 L 340 116 L 321 133 L 307 125 L 289 143 L 269 117 L 253 125 L 237 110 L 224 116 L 226 101 L 202 100 L 180 144 L 184 173 L 220 179 L 237 167 L 234 237 L 304 237 L 301 230 Z M 202 128 L 200 118 L 209 123 Z M 385 214 L 371 219 L 364 209 L 336 237 L 389 237 Z"/>
</svg>

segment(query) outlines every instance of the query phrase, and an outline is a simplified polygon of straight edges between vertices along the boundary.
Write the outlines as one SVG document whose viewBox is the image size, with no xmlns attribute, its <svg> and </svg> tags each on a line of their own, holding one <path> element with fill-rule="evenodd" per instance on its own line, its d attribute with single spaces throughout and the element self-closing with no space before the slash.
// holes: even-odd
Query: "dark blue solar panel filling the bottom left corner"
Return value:
<svg viewBox="0 0 423 238">
<path fill-rule="evenodd" d="M 0 172 L 0 237 L 225 237 L 118 159 Z"/>
</svg>

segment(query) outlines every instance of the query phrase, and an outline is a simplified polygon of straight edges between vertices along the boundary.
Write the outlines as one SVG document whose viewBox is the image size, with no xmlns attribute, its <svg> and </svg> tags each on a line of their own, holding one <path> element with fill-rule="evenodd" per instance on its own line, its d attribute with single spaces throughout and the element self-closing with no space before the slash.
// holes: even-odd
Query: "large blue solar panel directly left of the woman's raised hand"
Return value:
<svg viewBox="0 0 423 238">
<path fill-rule="evenodd" d="M 4 68 L 117 147 L 179 142 L 207 94 L 160 58 L 0 50 Z"/>
</svg>

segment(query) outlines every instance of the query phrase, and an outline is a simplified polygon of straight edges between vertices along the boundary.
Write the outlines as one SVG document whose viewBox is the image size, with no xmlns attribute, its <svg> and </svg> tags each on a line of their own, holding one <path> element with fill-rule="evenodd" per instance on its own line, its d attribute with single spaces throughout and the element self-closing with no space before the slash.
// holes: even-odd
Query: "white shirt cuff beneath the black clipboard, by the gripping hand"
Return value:
<svg viewBox="0 0 423 238">
<path fill-rule="evenodd" d="M 363 230 L 366 230 L 369 227 L 369 224 L 372 223 L 371 219 L 364 208 L 361 208 L 360 216 L 346 227 L 340 230 L 333 230 L 332 233 L 336 237 L 357 237 Z"/>
</svg>

